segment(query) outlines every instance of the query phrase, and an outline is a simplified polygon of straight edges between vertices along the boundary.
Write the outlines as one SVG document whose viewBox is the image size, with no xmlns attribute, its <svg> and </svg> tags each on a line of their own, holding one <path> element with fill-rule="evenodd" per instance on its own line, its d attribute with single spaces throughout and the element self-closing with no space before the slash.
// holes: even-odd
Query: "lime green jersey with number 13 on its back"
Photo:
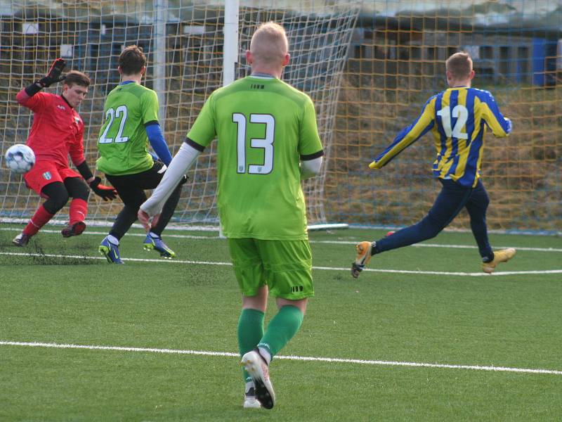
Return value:
<svg viewBox="0 0 562 422">
<path fill-rule="evenodd" d="M 218 212 L 228 238 L 308 238 L 299 162 L 320 157 L 311 98 L 280 79 L 249 76 L 214 91 L 188 133 L 218 139 Z"/>
</svg>

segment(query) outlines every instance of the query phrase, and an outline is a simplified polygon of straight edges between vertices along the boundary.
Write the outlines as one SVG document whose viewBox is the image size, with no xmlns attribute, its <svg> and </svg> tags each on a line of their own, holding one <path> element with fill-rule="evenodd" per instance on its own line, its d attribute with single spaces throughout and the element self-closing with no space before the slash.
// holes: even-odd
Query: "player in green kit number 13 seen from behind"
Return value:
<svg viewBox="0 0 562 422">
<path fill-rule="evenodd" d="M 209 96 L 138 218 L 150 229 L 150 217 L 159 214 L 174 186 L 216 137 L 218 210 L 242 290 L 237 332 L 244 407 L 271 409 L 275 393 L 269 364 L 299 331 L 314 295 L 301 180 L 320 172 L 324 153 L 311 98 L 280 80 L 289 63 L 285 30 L 275 23 L 261 25 L 246 59 L 251 75 Z M 277 298 L 279 311 L 264 333 L 269 293 Z"/>
</svg>

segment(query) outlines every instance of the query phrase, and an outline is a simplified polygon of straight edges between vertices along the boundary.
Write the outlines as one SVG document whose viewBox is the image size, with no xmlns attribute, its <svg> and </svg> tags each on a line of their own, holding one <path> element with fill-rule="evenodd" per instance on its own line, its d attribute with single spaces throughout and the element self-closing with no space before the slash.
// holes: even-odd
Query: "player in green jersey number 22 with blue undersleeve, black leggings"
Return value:
<svg viewBox="0 0 562 422">
<path fill-rule="evenodd" d="M 99 250 L 108 262 L 122 264 L 119 240 L 136 221 L 138 207 L 146 200 L 145 189 L 155 188 L 162 180 L 171 154 L 158 124 L 158 97 L 155 91 L 141 85 L 146 71 L 143 51 L 137 46 L 124 49 L 118 70 L 122 82 L 107 95 L 103 108 L 105 122 L 98 139 L 97 168 L 105 173 L 124 203 Z M 148 152 L 149 143 L 159 160 Z M 157 250 L 166 258 L 176 254 L 162 241 L 162 231 L 174 215 L 180 193 L 178 184 L 164 205 L 162 218 L 143 243 L 146 250 Z"/>
</svg>

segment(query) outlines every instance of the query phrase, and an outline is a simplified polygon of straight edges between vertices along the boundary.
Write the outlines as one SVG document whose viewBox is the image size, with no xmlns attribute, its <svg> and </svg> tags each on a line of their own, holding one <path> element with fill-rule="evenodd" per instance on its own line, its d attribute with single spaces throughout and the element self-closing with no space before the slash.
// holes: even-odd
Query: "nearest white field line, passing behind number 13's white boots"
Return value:
<svg viewBox="0 0 562 422">
<path fill-rule="evenodd" d="M 85 350 L 110 350 L 116 352 L 147 352 L 163 354 L 192 354 L 195 356 L 218 356 L 236 357 L 240 355 L 233 352 L 211 352 L 207 350 L 174 350 L 174 349 L 155 349 L 152 347 L 119 347 L 119 346 L 93 346 L 93 345 L 73 345 L 60 343 L 36 343 L 20 341 L 2 341 L 4 346 L 24 346 L 24 347 L 49 347 L 54 349 L 85 349 Z M 384 366 L 409 366 L 417 368 L 443 368 L 443 369 L 471 369 L 475 371 L 494 371 L 494 372 L 516 372 L 516 373 L 541 373 L 551 375 L 562 375 L 562 371 L 553 369 L 527 369 L 510 368 L 507 366 L 480 366 L 480 365 L 452 365 L 452 364 L 428 364 L 424 362 L 396 362 L 383 360 L 365 359 L 343 359 L 339 357 L 309 357 L 309 356 L 277 356 L 275 359 L 285 359 L 294 361 L 308 362 L 328 362 L 337 364 L 359 364 L 359 365 L 384 365 Z"/>
</svg>

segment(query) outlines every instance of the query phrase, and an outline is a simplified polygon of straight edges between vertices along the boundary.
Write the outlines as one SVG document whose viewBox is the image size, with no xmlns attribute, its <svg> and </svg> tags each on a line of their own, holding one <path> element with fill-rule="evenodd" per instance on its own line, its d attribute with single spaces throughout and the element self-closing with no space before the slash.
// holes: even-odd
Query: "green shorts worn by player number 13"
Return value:
<svg viewBox="0 0 562 422">
<path fill-rule="evenodd" d="M 305 241 L 228 239 L 234 272 L 244 296 L 267 285 L 275 298 L 299 300 L 314 295 L 311 245 Z"/>
</svg>

